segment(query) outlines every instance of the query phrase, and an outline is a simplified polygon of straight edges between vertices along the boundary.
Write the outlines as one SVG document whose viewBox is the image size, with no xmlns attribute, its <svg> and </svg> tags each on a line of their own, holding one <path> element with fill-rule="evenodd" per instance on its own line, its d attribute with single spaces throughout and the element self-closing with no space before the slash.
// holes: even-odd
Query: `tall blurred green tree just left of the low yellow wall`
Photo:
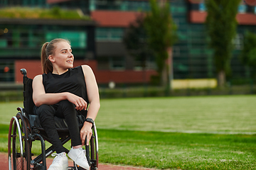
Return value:
<svg viewBox="0 0 256 170">
<path fill-rule="evenodd" d="M 170 85 L 170 72 L 168 50 L 177 39 L 176 25 L 174 24 L 169 11 L 168 1 L 159 4 L 156 0 L 150 0 L 151 11 L 146 13 L 144 28 L 150 49 L 154 52 L 157 72 L 161 77 L 163 86 Z"/>
</svg>

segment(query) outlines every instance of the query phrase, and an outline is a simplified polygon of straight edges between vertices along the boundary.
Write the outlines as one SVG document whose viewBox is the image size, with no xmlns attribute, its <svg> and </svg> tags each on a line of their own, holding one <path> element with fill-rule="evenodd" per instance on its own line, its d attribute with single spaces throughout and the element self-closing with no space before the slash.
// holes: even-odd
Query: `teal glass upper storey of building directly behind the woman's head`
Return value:
<svg viewBox="0 0 256 170">
<path fill-rule="evenodd" d="M 84 26 L 1 24 L 0 31 L 0 58 L 36 59 L 44 42 L 65 38 L 70 40 L 74 55 L 83 59 L 90 43 Z"/>
</svg>

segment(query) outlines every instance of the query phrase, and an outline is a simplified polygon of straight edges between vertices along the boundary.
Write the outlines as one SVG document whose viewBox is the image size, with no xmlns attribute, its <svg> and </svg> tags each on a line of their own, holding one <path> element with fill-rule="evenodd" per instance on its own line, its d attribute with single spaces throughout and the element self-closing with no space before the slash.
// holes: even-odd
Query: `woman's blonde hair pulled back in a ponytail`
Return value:
<svg viewBox="0 0 256 170">
<path fill-rule="evenodd" d="M 50 62 L 48 57 L 49 55 L 54 55 L 54 52 L 56 49 L 55 44 L 58 42 L 68 42 L 68 44 L 70 44 L 69 40 L 65 40 L 63 38 L 55 38 L 50 42 L 44 43 L 41 48 L 41 64 L 42 64 L 43 73 L 48 74 L 49 72 L 53 72 L 53 64 Z"/>
</svg>

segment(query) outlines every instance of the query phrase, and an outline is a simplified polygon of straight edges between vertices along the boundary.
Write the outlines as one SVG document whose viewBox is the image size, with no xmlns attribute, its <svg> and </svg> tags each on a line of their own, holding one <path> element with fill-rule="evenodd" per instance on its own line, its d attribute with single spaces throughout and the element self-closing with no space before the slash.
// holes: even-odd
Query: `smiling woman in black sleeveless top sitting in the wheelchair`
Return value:
<svg viewBox="0 0 256 170">
<path fill-rule="evenodd" d="M 57 157 L 48 170 L 68 168 L 68 158 L 58 137 L 54 116 L 65 118 L 68 124 L 72 141 L 68 156 L 75 164 L 90 169 L 82 145 L 85 145 L 85 137 L 86 145 L 89 145 L 92 123 L 100 109 L 100 97 L 92 69 L 87 65 L 73 68 L 73 61 L 68 40 L 58 38 L 46 42 L 41 50 L 44 74 L 33 79 L 33 112 L 40 118 L 41 125 L 57 152 Z M 77 115 L 86 117 L 81 130 Z"/>
</svg>

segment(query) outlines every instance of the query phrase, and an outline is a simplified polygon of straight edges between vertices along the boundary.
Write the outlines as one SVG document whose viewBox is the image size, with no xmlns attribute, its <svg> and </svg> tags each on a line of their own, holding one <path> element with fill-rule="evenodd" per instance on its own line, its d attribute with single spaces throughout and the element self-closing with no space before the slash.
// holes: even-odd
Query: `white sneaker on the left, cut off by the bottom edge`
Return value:
<svg viewBox="0 0 256 170">
<path fill-rule="evenodd" d="M 53 159 L 53 163 L 49 166 L 48 170 L 66 170 L 68 169 L 68 157 L 65 152 L 61 152 L 60 154 L 52 154 L 56 155 Z"/>
</svg>

